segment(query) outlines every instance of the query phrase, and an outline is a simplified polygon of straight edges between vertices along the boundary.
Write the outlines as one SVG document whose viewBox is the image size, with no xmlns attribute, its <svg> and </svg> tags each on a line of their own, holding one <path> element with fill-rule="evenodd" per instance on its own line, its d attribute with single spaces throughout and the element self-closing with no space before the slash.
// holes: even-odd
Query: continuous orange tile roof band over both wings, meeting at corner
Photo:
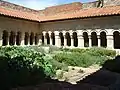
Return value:
<svg viewBox="0 0 120 90">
<path fill-rule="evenodd" d="M 62 13 L 51 16 L 40 16 L 33 13 L 0 7 L 0 14 L 10 17 L 32 20 L 32 21 L 45 22 L 45 21 L 74 19 L 74 18 L 89 18 L 96 16 L 100 17 L 100 16 L 108 16 L 108 15 L 120 15 L 120 6 L 107 6 L 103 8 L 81 9 L 71 13 L 66 13 L 66 14 Z"/>
</svg>

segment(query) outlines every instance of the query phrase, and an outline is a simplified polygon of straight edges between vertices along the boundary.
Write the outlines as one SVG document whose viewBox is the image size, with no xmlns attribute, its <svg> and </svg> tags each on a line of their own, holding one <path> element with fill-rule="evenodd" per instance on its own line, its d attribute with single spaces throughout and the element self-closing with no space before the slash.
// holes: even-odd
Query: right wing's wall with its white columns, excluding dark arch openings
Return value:
<svg viewBox="0 0 120 90">
<path fill-rule="evenodd" d="M 93 45 L 93 39 L 91 38 L 93 33 L 96 35 L 96 46 L 100 47 L 101 40 L 100 35 L 101 33 L 105 33 L 106 37 L 106 47 L 108 49 L 114 49 L 116 47 L 116 42 L 114 43 L 114 32 L 117 31 L 119 33 L 120 25 L 119 25 L 120 16 L 108 16 L 108 17 L 96 17 L 96 18 L 86 18 L 86 19 L 74 19 L 74 20 L 64 20 L 64 21 L 56 21 L 56 22 L 46 22 L 41 23 L 41 30 L 43 31 L 43 35 L 47 35 L 46 33 L 49 33 L 49 36 L 51 35 L 51 32 L 55 33 L 55 45 L 61 46 L 61 41 L 59 37 L 59 33 L 63 34 L 64 37 L 64 47 L 74 47 L 73 45 L 73 33 L 77 33 L 78 38 L 78 47 L 84 48 L 85 42 L 84 42 L 84 36 L 83 33 L 87 33 L 87 37 L 89 39 L 89 47 L 95 46 Z M 69 33 L 71 45 L 66 43 L 68 39 L 66 39 L 66 33 Z M 51 40 L 51 38 L 50 38 Z M 61 39 L 62 40 L 62 39 Z M 47 39 L 44 39 L 44 44 L 47 43 Z M 51 42 L 51 41 L 50 41 Z M 118 41 L 117 41 L 118 42 Z M 63 42 L 62 42 L 63 43 Z M 52 44 L 50 44 L 52 45 Z"/>
</svg>

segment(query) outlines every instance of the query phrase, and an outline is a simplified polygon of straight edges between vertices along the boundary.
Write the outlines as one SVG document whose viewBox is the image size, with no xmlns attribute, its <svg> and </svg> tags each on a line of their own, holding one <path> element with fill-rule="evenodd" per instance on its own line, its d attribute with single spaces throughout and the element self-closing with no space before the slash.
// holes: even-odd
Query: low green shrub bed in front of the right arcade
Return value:
<svg viewBox="0 0 120 90">
<path fill-rule="evenodd" d="M 54 59 L 70 66 L 89 67 L 93 64 L 102 65 L 110 57 L 116 55 L 115 51 L 104 48 L 70 49 L 56 53 Z"/>
</svg>

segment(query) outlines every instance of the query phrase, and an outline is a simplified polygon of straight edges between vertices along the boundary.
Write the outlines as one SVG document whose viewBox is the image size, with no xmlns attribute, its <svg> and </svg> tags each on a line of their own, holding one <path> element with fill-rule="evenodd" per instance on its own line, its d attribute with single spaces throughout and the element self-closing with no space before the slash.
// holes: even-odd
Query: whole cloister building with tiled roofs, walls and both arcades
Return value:
<svg viewBox="0 0 120 90">
<path fill-rule="evenodd" d="M 33 10 L 0 1 L 0 45 L 120 49 L 120 0 Z"/>
</svg>

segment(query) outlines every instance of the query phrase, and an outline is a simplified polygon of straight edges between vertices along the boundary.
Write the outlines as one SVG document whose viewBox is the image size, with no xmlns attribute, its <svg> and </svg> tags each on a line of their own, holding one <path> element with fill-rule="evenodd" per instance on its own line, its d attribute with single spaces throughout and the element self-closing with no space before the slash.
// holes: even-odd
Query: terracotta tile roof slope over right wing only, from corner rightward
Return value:
<svg viewBox="0 0 120 90">
<path fill-rule="evenodd" d="M 120 6 L 107 6 L 103 8 L 90 8 L 82 9 L 73 13 L 59 14 L 53 16 L 44 16 L 40 21 L 52 21 L 52 20 L 63 20 L 63 19 L 74 19 L 74 18 L 87 18 L 95 16 L 107 16 L 107 15 L 118 15 L 120 14 Z"/>
</svg>

